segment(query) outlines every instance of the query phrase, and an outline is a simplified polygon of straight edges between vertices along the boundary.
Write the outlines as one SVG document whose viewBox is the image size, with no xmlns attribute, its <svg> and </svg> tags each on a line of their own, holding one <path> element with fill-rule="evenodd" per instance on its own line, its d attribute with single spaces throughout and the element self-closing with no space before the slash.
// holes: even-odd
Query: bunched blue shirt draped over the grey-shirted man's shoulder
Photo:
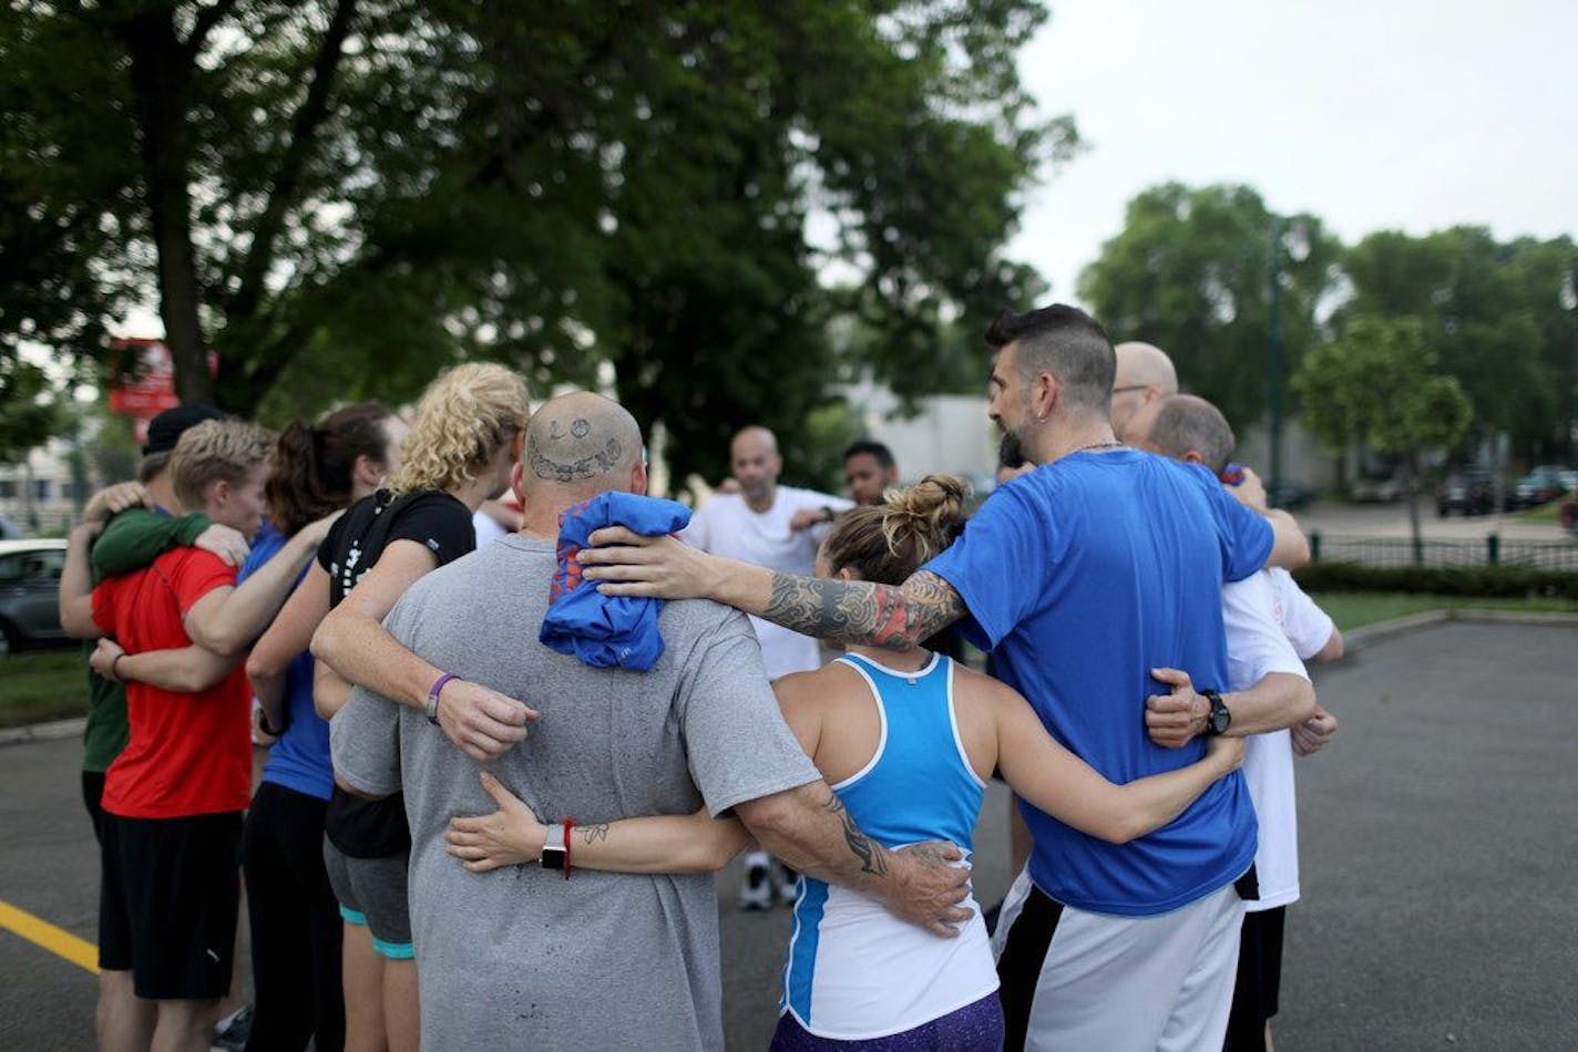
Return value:
<svg viewBox="0 0 1578 1052">
<path fill-rule="evenodd" d="M 658 497 L 608 492 L 571 505 L 559 516 L 559 546 L 548 615 L 537 634 L 549 650 L 574 655 L 595 669 L 645 672 L 663 655 L 658 612 L 663 599 L 606 596 L 581 577 L 576 554 L 595 530 L 622 525 L 641 536 L 683 530 L 690 508 Z"/>
</svg>

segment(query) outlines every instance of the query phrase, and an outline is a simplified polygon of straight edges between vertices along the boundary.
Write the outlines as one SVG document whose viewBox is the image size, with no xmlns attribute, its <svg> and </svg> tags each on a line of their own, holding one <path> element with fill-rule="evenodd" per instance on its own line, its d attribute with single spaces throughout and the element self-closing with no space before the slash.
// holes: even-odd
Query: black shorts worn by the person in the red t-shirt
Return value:
<svg viewBox="0 0 1578 1052">
<path fill-rule="evenodd" d="M 230 989 L 241 893 L 241 812 L 104 814 L 99 967 L 137 997 L 210 1000 Z"/>
</svg>

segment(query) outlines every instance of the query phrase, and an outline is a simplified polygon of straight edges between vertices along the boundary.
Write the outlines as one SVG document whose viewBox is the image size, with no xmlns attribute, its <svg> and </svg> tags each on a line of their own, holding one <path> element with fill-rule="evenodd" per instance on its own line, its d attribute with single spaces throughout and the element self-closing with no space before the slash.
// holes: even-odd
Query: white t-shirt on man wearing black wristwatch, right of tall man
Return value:
<svg viewBox="0 0 1578 1052">
<path fill-rule="evenodd" d="M 1269 672 L 1310 678 L 1277 620 L 1277 588 L 1267 573 L 1223 585 L 1221 620 L 1228 632 L 1229 691 L 1251 688 Z M 1261 826 L 1255 852 L 1261 897 L 1243 904 L 1253 913 L 1299 899 L 1299 812 L 1292 738 L 1286 729 L 1245 740 L 1243 781 Z"/>
</svg>

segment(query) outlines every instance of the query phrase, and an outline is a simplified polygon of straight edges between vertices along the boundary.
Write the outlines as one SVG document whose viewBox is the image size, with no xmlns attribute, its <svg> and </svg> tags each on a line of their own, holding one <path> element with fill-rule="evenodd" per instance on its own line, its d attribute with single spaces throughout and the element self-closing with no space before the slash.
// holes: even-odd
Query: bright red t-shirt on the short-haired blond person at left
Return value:
<svg viewBox="0 0 1578 1052">
<path fill-rule="evenodd" d="M 191 645 L 181 618 L 235 568 L 177 547 L 151 566 L 93 590 L 93 620 L 128 653 Z M 238 661 L 200 694 L 126 685 L 131 738 L 104 773 L 104 811 L 123 819 L 180 819 L 245 811 L 252 782 L 251 688 Z"/>
</svg>

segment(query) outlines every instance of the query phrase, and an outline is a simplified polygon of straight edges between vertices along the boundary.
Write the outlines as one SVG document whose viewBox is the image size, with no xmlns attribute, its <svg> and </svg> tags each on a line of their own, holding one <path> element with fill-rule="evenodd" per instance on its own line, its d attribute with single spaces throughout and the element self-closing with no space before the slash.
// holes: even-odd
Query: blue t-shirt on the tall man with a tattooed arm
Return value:
<svg viewBox="0 0 1578 1052">
<path fill-rule="evenodd" d="M 1177 770 L 1196 738 L 1146 737 L 1150 669 L 1184 669 L 1196 689 L 1228 685 L 1221 585 L 1258 571 L 1270 525 L 1210 472 L 1149 453 L 1076 453 L 1011 481 L 925 569 L 969 614 L 961 631 L 993 650 L 1057 741 L 1112 782 Z M 1030 879 L 1053 899 L 1146 916 L 1187 905 L 1255 861 L 1255 811 L 1239 773 L 1149 836 L 1116 845 L 1023 806 Z"/>
</svg>

